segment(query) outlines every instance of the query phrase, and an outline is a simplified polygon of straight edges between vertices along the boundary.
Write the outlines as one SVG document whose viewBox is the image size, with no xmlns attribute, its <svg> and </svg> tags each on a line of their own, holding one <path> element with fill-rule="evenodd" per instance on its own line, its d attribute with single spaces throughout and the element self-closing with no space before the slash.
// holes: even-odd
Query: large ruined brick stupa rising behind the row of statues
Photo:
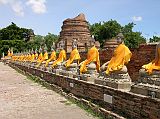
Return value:
<svg viewBox="0 0 160 119">
<path fill-rule="evenodd" d="M 79 14 L 73 19 L 66 19 L 63 21 L 60 38 L 57 42 L 57 49 L 59 49 L 60 41 L 65 43 L 66 52 L 72 51 L 72 41 L 77 40 L 79 52 L 84 52 L 91 47 L 93 40 L 89 31 L 88 22 L 84 14 Z M 96 44 L 99 45 L 98 42 Z"/>
</svg>

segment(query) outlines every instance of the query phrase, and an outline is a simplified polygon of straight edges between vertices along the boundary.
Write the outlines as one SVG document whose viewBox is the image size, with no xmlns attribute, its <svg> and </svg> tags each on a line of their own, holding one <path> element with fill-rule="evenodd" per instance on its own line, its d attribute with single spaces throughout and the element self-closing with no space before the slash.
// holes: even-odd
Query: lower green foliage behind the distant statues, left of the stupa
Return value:
<svg viewBox="0 0 160 119">
<path fill-rule="evenodd" d="M 46 36 L 36 35 L 33 39 L 33 41 L 24 41 L 24 40 L 0 40 L 0 57 L 2 56 L 2 53 L 4 52 L 5 55 L 7 55 L 8 49 L 13 47 L 14 53 L 17 52 L 24 52 L 31 50 L 32 48 L 35 50 L 40 46 L 44 46 L 44 44 L 47 45 L 48 51 L 51 50 L 51 46 L 53 42 L 56 42 L 58 40 L 58 36 L 48 33 Z"/>
</svg>

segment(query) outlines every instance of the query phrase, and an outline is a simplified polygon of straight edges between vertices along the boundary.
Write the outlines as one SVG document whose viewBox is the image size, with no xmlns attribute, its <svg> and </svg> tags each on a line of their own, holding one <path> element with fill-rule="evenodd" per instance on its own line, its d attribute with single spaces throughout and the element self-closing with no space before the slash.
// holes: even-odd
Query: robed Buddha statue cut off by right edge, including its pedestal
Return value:
<svg viewBox="0 0 160 119">
<path fill-rule="evenodd" d="M 139 79 L 135 81 L 131 92 L 160 98 L 160 42 L 156 45 L 155 58 L 139 70 Z"/>
</svg>

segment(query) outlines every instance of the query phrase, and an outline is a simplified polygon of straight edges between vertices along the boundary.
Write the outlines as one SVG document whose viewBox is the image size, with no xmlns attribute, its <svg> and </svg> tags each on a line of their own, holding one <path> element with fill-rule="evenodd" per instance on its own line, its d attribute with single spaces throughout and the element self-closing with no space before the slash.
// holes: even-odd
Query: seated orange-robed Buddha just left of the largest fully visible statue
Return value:
<svg viewBox="0 0 160 119">
<path fill-rule="evenodd" d="M 80 63 L 80 74 L 99 72 L 100 71 L 100 60 L 99 52 L 93 41 L 91 49 L 87 53 L 87 59 Z"/>
</svg>

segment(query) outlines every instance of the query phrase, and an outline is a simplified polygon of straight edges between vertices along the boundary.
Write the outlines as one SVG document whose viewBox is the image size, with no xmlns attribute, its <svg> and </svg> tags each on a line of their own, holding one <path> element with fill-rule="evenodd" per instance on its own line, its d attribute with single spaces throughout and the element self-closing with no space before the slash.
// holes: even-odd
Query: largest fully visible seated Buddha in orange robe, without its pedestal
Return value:
<svg viewBox="0 0 160 119">
<path fill-rule="evenodd" d="M 114 50 L 113 56 L 110 61 L 106 62 L 101 66 L 101 72 L 105 71 L 105 74 L 110 75 L 111 73 L 127 73 L 127 64 L 132 56 L 131 51 L 123 42 L 123 34 L 117 35 L 117 43 L 119 44 Z"/>
</svg>

